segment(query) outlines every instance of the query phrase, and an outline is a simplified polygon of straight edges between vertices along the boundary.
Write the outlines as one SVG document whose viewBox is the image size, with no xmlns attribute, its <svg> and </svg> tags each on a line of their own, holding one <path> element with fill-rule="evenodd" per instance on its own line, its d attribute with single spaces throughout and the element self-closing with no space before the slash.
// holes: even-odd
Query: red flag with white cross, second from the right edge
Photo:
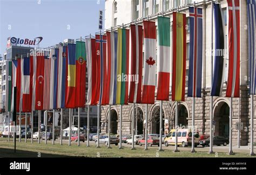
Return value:
<svg viewBox="0 0 256 175">
<path fill-rule="evenodd" d="M 228 4 L 228 79 L 226 97 L 240 96 L 240 4 L 227 0 Z"/>
</svg>

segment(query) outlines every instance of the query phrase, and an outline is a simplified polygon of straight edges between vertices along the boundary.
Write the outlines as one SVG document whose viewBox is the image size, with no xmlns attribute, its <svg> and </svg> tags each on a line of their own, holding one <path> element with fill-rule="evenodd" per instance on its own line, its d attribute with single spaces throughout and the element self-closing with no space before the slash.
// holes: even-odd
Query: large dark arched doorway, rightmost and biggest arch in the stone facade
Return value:
<svg viewBox="0 0 256 175">
<path fill-rule="evenodd" d="M 230 107 L 226 102 L 218 104 L 214 110 L 215 136 L 229 137 L 230 135 Z"/>
</svg>

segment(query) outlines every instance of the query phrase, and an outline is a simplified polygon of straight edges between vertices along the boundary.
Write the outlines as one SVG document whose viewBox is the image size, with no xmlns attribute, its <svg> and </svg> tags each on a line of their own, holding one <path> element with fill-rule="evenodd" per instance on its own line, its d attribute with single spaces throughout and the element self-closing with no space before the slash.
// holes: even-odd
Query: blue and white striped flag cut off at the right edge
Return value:
<svg viewBox="0 0 256 175">
<path fill-rule="evenodd" d="M 248 58 L 249 58 L 249 68 L 250 68 L 250 95 L 256 95 L 256 66 L 255 66 L 255 56 L 256 56 L 256 37 L 255 37 L 255 1 L 247 0 L 247 24 L 248 24 Z"/>
</svg>

